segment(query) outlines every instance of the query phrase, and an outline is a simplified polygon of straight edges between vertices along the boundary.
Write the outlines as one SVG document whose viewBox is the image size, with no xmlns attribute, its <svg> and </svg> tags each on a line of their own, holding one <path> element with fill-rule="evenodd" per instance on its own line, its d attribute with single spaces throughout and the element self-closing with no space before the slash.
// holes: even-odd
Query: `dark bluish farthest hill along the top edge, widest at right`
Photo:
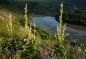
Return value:
<svg viewBox="0 0 86 59">
<path fill-rule="evenodd" d="M 86 8 L 86 0 L 8 0 L 8 1 L 45 1 L 45 2 L 66 2 L 80 8 Z"/>
</svg>

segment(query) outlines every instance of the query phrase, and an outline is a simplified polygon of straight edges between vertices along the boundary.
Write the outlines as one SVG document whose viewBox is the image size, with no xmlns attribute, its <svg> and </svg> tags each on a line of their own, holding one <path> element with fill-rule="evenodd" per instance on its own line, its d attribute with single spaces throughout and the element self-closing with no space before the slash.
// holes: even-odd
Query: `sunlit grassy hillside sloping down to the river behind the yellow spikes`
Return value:
<svg viewBox="0 0 86 59">
<path fill-rule="evenodd" d="M 24 35 L 24 24 L 25 24 L 25 19 L 24 19 L 24 12 L 23 10 L 21 10 L 21 8 L 17 8 L 15 6 L 11 6 L 11 5 L 6 5 L 6 4 L 1 4 L 0 5 L 0 36 L 1 37 L 7 37 L 8 36 L 8 29 L 7 29 L 7 24 L 8 24 L 8 20 L 9 20 L 9 13 L 12 14 L 12 20 L 13 20 L 13 24 L 14 24 L 14 35 L 18 36 L 18 37 L 23 37 Z M 28 25 L 29 22 L 32 20 L 30 14 L 27 15 L 28 16 Z M 34 33 L 33 30 L 33 26 L 32 26 L 32 33 Z M 4 31 L 3 31 L 4 30 Z M 21 33 L 21 34 L 20 34 Z M 36 28 L 36 36 L 40 36 L 42 37 L 42 39 L 47 39 L 48 36 L 50 36 L 51 39 L 53 39 L 54 37 L 44 31 L 41 31 L 39 29 Z"/>
</svg>

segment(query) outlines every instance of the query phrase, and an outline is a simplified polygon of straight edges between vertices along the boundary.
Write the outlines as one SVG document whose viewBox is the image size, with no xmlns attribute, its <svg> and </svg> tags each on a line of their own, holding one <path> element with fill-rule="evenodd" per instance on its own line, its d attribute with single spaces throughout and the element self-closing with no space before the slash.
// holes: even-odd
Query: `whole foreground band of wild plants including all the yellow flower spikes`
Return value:
<svg viewBox="0 0 86 59">
<path fill-rule="evenodd" d="M 14 25 L 9 13 L 7 24 L 9 38 L 0 38 L 0 59 L 85 59 L 86 47 L 75 41 L 65 41 L 68 35 L 65 33 L 66 24 L 62 27 L 63 3 L 60 5 L 59 25 L 53 43 L 48 38 L 42 40 L 36 36 L 36 24 L 28 26 L 27 4 L 24 8 L 24 37 L 22 39 L 14 36 Z M 33 32 L 32 32 L 33 31 Z M 20 33 L 21 34 L 21 33 Z"/>
</svg>

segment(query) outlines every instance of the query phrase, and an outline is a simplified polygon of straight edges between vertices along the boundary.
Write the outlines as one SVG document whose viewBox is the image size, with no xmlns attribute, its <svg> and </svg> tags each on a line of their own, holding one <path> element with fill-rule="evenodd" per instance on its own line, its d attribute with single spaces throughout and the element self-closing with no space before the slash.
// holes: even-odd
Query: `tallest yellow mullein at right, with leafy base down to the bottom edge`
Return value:
<svg viewBox="0 0 86 59">
<path fill-rule="evenodd" d="M 66 24 L 62 27 L 62 14 L 63 14 L 63 3 L 60 4 L 60 16 L 59 16 L 59 25 L 57 25 L 57 33 L 55 34 L 57 43 L 54 47 L 41 49 L 41 57 L 43 59 L 67 59 L 67 50 L 64 45 L 64 39 L 67 34 L 65 34 Z"/>
</svg>

